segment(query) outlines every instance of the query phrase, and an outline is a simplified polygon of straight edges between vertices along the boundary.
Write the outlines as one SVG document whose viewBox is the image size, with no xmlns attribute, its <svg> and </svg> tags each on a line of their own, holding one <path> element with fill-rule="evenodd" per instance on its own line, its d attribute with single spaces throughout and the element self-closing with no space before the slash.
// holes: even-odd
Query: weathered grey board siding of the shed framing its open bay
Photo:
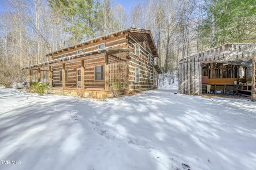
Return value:
<svg viewBox="0 0 256 170">
<path fill-rule="evenodd" d="M 202 63 L 239 61 L 246 59 L 252 59 L 252 100 L 256 101 L 256 45 L 251 44 L 226 44 L 180 60 L 179 93 L 202 95 Z"/>
</svg>

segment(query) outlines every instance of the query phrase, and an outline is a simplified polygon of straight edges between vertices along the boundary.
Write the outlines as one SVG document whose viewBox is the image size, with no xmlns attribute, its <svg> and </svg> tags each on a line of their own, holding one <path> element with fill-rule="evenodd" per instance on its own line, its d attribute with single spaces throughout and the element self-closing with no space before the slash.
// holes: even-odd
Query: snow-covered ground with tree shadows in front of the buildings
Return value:
<svg viewBox="0 0 256 170">
<path fill-rule="evenodd" d="M 0 89 L 0 170 L 256 169 L 255 102 L 169 87 L 106 101 Z"/>
</svg>

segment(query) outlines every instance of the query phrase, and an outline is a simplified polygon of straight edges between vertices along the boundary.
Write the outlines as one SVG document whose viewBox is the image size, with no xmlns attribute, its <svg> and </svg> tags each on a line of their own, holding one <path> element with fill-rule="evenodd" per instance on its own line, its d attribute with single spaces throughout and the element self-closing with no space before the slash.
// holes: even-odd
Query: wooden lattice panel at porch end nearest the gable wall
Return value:
<svg viewBox="0 0 256 170">
<path fill-rule="evenodd" d="M 128 62 L 108 55 L 109 90 L 128 88 Z"/>
</svg>

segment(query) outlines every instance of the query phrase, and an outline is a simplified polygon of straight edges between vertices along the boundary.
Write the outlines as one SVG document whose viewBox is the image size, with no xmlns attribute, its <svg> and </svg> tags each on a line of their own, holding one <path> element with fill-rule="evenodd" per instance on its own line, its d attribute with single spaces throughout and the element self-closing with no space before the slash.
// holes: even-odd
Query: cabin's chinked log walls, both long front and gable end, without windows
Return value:
<svg viewBox="0 0 256 170">
<path fill-rule="evenodd" d="M 82 53 L 92 53 L 98 50 L 98 45 L 105 43 L 106 48 L 130 48 L 134 51 L 129 53 L 117 53 L 117 57 L 127 59 L 128 61 L 128 83 L 129 90 L 149 90 L 157 88 L 158 73 L 153 72 L 154 68 L 154 54 L 152 52 L 148 36 L 145 33 L 126 32 L 126 34 L 117 35 L 117 37 L 108 37 L 105 40 L 97 41 L 82 45 L 78 48 L 69 49 L 68 51 L 60 51 L 52 56 L 52 59 L 60 59 L 62 54 L 66 54 L 66 57 L 76 55 L 78 50 L 82 49 Z M 140 46 L 140 56 L 135 55 L 136 44 Z M 150 54 L 150 63 L 148 61 L 148 54 Z M 78 59 L 70 59 L 70 61 L 64 61 L 65 69 L 68 70 L 68 81 L 66 87 L 76 86 L 76 70 L 74 68 L 80 68 L 81 61 L 84 61 L 84 86 L 85 87 L 105 87 L 105 81 L 96 81 L 94 78 L 94 67 L 105 64 L 104 54 L 96 52 L 94 55 L 85 56 Z M 53 70 L 53 86 L 62 87 L 60 82 L 60 70 L 62 70 L 62 64 L 54 63 L 51 65 Z M 139 83 L 135 83 L 135 68 L 140 69 Z M 150 73 L 150 80 L 148 75 Z M 154 79 L 154 86 L 153 86 Z"/>
</svg>

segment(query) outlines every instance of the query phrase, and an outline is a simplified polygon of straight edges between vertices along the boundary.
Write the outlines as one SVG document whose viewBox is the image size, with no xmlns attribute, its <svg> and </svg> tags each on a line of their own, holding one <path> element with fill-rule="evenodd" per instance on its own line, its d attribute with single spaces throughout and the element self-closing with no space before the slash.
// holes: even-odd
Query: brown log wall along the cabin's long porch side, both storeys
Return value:
<svg viewBox="0 0 256 170">
<path fill-rule="evenodd" d="M 62 53 L 55 54 L 53 59 L 60 59 L 62 54 L 66 54 L 66 57 L 76 55 L 77 51 L 82 49 L 82 53 L 96 51 L 98 44 L 105 43 L 106 48 L 125 48 L 127 47 L 128 40 L 126 35 L 120 34 L 117 37 L 107 37 L 106 40 L 92 42 L 91 44 L 84 45 L 79 48 L 75 48 L 69 51 L 63 51 Z M 94 67 L 104 65 L 104 54 L 95 54 L 80 59 L 70 59 L 64 61 L 65 69 L 68 70 L 68 81 L 66 81 L 66 87 L 73 87 L 76 85 L 76 70 L 74 68 L 81 68 L 81 61 L 84 60 L 84 86 L 85 87 L 101 87 L 104 88 L 104 80 L 94 80 Z M 60 70 L 62 70 L 62 64 L 52 64 L 53 70 L 53 85 L 56 87 L 62 87 L 62 81 L 60 81 Z M 62 78 L 63 80 L 63 78 Z"/>
</svg>

